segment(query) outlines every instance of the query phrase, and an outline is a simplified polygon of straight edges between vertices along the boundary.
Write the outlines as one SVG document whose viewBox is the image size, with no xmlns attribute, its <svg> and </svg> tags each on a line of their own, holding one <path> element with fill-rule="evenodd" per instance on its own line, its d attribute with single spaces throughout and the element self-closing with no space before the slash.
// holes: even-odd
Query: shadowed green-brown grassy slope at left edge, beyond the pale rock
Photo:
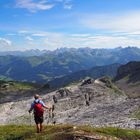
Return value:
<svg viewBox="0 0 140 140">
<path fill-rule="evenodd" d="M 38 88 L 40 85 L 33 83 L 0 80 L 0 103 L 32 96 L 32 91 Z"/>
</svg>

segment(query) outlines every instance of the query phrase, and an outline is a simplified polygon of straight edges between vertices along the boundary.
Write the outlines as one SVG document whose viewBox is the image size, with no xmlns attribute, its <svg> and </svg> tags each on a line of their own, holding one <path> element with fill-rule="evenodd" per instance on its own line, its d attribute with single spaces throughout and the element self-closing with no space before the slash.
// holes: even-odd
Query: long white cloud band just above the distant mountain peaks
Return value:
<svg viewBox="0 0 140 140">
<path fill-rule="evenodd" d="M 138 33 L 138 32 L 137 32 Z M 136 33 L 135 33 L 136 34 Z M 42 49 L 54 50 L 61 47 L 68 48 L 115 48 L 118 46 L 140 46 L 139 38 L 134 35 L 92 35 L 92 34 L 63 34 L 63 33 L 34 33 L 32 46 L 42 46 Z"/>
</svg>

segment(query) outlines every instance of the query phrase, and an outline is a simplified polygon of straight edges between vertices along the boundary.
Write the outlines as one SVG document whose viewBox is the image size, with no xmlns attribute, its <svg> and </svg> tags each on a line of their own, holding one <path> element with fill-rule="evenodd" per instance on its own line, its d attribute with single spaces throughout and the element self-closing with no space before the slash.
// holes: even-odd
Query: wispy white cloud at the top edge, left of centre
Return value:
<svg viewBox="0 0 140 140">
<path fill-rule="evenodd" d="M 30 12 L 35 13 L 39 10 L 49 10 L 54 7 L 54 4 L 48 3 L 46 0 L 17 0 L 16 7 L 28 9 Z"/>
</svg>

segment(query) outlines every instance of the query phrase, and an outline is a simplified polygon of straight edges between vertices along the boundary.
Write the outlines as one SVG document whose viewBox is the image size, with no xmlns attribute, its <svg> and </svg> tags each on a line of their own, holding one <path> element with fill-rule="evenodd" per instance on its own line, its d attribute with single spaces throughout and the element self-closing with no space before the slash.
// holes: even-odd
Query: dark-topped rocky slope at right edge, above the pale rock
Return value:
<svg viewBox="0 0 140 140">
<path fill-rule="evenodd" d="M 120 66 L 115 77 L 116 85 L 129 97 L 140 97 L 140 62 L 133 61 Z"/>
</svg>

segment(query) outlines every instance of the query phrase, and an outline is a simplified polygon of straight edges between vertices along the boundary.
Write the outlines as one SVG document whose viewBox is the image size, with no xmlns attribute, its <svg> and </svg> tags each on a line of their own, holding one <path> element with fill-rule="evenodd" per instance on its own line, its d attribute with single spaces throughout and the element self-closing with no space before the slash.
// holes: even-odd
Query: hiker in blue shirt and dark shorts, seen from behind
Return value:
<svg viewBox="0 0 140 140">
<path fill-rule="evenodd" d="M 49 108 L 45 105 L 45 103 L 42 101 L 41 97 L 38 94 L 34 95 L 34 98 L 35 98 L 35 100 L 31 104 L 31 108 L 29 109 L 29 113 L 31 113 L 32 110 L 34 110 L 34 120 L 36 123 L 37 133 L 40 133 L 42 131 L 42 128 L 43 128 L 43 126 L 42 126 L 43 113 L 44 113 L 43 107 L 46 109 L 49 109 L 49 111 L 51 108 Z"/>
</svg>

